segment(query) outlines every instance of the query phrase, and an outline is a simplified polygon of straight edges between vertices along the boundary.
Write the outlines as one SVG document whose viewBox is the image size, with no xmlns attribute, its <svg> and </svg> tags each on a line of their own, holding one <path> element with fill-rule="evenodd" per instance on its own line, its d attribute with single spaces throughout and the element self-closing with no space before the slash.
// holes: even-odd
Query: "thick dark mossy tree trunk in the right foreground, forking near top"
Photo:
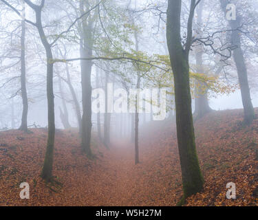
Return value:
<svg viewBox="0 0 258 220">
<path fill-rule="evenodd" d="M 184 50 L 180 36 L 181 1 L 169 0 L 167 10 L 167 43 L 171 67 L 175 83 L 175 109 L 178 133 L 178 149 L 182 170 L 182 184 L 184 196 L 189 197 L 203 188 L 204 179 L 199 166 L 195 148 L 195 134 L 193 129 L 193 115 L 191 107 L 191 92 L 189 86 L 189 51 Z M 191 10 L 195 1 L 191 1 Z M 192 15 L 193 16 L 193 15 Z M 190 18 L 190 16 L 189 16 Z M 191 19 L 189 19 L 191 20 Z M 192 21 L 189 21 L 192 22 Z M 188 38 L 192 38 L 191 23 L 189 23 Z"/>
</svg>

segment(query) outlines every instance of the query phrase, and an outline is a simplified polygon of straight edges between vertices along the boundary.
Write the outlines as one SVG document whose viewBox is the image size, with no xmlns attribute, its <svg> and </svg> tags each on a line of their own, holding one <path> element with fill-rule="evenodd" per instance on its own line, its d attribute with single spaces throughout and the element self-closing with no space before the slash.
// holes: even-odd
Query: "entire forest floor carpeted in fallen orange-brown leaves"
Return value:
<svg viewBox="0 0 258 220">
<path fill-rule="evenodd" d="M 186 206 L 258 205 L 258 120 L 243 126 L 242 115 L 242 110 L 214 111 L 195 123 L 205 185 Z M 93 137 L 96 159 L 89 160 L 76 131 L 56 130 L 53 173 L 61 187 L 39 177 L 46 129 L 1 132 L 0 206 L 175 206 L 182 195 L 175 124 L 152 125 L 141 135 L 137 165 L 126 140 L 107 150 Z M 30 199 L 19 197 L 22 182 L 30 184 Z M 236 184 L 237 199 L 226 199 L 229 182 Z"/>
</svg>

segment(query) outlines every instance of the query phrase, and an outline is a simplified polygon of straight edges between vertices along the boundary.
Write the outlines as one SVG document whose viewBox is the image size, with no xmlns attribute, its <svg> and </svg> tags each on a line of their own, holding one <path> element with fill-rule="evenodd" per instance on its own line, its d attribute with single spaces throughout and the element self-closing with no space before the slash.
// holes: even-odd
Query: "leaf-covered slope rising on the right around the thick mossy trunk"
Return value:
<svg viewBox="0 0 258 220">
<path fill-rule="evenodd" d="M 213 111 L 195 123 L 197 153 L 205 185 L 203 192 L 187 199 L 186 206 L 257 206 L 258 119 L 244 126 L 243 114 L 241 109 Z M 149 149 L 142 152 L 149 164 L 142 166 L 157 170 L 157 175 L 151 179 L 160 181 L 160 204 L 174 205 L 182 195 L 175 125 L 169 126 L 166 122 L 156 127 L 159 126 L 159 131 L 149 135 Z M 144 142 L 147 141 L 146 135 Z M 230 182 L 236 184 L 237 199 L 226 199 L 226 184 Z M 166 198 L 166 190 L 170 199 Z"/>
</svg>

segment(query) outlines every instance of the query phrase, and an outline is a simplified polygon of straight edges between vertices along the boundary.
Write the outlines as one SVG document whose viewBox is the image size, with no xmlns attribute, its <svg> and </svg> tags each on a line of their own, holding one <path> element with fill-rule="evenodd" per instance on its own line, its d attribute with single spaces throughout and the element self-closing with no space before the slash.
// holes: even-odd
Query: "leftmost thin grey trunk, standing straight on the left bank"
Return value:
<svg viewBox="0 0 258 220">
<path fill-rule="evenodd" d="M 23 100 L 23 113 L 21 117 L 20 130 L 28 132 L 28 96 L 26 89 L 25 70 L 25 5 L 23 3 L 23 19 L 21 21 L 21 98 Z"/>
</svg>

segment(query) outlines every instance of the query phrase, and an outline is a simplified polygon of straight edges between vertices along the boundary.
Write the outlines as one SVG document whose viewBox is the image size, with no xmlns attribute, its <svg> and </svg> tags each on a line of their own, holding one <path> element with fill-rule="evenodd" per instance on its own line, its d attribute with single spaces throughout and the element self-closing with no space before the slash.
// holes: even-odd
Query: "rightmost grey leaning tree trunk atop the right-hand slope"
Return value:
<svg viewBox="0 0 258 220">
<path fill-rule="evenodd" d="M 224 13 L 226 14 L 226 5 L 228 4 L 228 1 L 220 0 L 220 3 L 222 6 L 222 10 L 224 10 Z M 237 48 L 233 50 L 233 58 L 237 67 L 241 98 L 244 106 L 244 122 L 246 124 L 250 124 L 252 123 L 252 120 L 255 119 L 255 111 L 253 109 L 250 96 L 250 88 L 248 84 L 244 53 L 241 50 L 241 32 L 237 30 L 237 28 L 241 28 L 241 16 L 237 13 L 237 19 L 235 21 L 228 21 L 228 23 L 230 25 L 230 28 L 233 30 L 231 34 L 231 43 L 232 45 L 237 46 Z"/>
</svg>

